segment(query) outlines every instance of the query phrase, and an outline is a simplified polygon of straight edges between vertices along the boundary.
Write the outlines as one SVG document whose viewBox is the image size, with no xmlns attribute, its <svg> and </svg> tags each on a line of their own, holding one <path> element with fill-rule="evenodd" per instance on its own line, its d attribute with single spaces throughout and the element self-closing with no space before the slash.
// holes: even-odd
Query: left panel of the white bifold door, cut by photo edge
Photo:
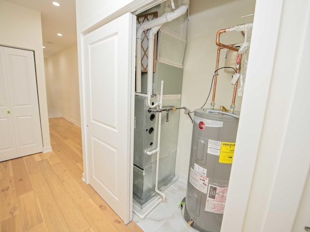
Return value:
<svg viewBox="0 0 310 232">
<path fill-rule="evenodd" d="M 17 158 L 17 149 L 6 78 L 4 47 L 0 46 L 0 161 L 14 158 Z"/>
</svg>

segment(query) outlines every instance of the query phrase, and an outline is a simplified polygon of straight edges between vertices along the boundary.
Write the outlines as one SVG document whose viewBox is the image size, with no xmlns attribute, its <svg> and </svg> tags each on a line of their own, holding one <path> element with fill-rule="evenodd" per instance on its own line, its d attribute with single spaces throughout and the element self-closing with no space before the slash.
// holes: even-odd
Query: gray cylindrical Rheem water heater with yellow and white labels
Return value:
<svg viewBox="0 0 310 232">
<path fill-rule="evenodd" d="M 200 232 L 220 231 L 238 122 L 195 110 L 184 217 Z"/>
</svg>

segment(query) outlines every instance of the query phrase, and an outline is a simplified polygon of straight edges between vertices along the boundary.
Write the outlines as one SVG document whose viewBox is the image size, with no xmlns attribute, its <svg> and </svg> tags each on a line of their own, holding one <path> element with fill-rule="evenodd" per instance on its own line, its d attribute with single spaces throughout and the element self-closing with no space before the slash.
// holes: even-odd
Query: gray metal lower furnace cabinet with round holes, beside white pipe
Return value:
<svg viewBox="0 0 310 232">
<path fill-rule="evenodd" d="M 147 155 L 146 151 L 151 151 L 157 147 L 159 113 L 148 112 L 146 97 L 136 96 L 135 99 L 136 128 L 134 133 L 135 166 L 133 193 L 134 199 L 142 205 L 156 194 L 155 173 L 157 153 Z M 180 99 L 163 100 L 163 108 L 177 107 L 180 107 Z M 152 114 L 155 116 L 153 121 L 150 119 Z M 180 110 L 171 110 L 169 112 L 169 121 L 167 122 L 167 113 L 165 111 L 162 112 L 158 188 L 174 177 L 179 115 Z M 152 134 L 149 133 L 151 127 L 154 129 Z"/>
</svg>

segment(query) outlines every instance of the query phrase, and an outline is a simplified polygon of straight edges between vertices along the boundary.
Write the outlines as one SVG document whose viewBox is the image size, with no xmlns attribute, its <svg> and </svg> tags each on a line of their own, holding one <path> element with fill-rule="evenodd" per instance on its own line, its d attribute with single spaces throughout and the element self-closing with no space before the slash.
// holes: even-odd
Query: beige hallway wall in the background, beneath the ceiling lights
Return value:
<svg viewBox="0 0 310 232">
<path fill-rule="evenodd" d="M 77 44 L 45 58 L 45 74 L 48 110 L 80 125 Z"/>
</svg>

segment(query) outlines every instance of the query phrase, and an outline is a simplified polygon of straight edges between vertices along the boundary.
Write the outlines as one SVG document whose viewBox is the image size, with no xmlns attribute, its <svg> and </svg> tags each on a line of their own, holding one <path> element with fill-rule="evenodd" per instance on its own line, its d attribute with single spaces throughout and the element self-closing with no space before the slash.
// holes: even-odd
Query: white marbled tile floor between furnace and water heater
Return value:
<svg viewBox="0 0 310 232">
<path fill-rule="evenodd" d="M 190 228 L 184 220 L 179 203 L 186 196 L 186 184 L 178 180 L 165 192 L 168 198 L 167 203 L 160 203 L 149 215 L 141 220 L 133 214 L 133 220 L 144 232 L 197 232 Z M 154 202 L 157 201 L 157 198 Z M 142 211 L 133 205 L 134 209 L 140 214 L 146 212 L 154 203 L 150 203 Z"/>
</svg>

